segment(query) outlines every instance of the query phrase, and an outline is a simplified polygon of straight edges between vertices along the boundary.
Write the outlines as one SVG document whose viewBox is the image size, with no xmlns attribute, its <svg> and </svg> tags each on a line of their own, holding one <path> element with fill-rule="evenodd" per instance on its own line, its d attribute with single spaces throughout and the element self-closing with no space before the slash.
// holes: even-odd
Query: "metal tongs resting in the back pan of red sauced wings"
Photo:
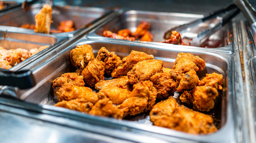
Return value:
<svg viewBox="0 0 256 143">
<path fill-rule="evenodd" d="M 228 12 L 227 14 L 225 14 Z M 205 22 L 207 20 L 210 20 L 212 18 L 215 18 L 217 16 L 222 16 L 222 20 L 220 23 L 216 24 L 211 29 L 206 29 L 201 31 L 197 37 L 194 37 L 192 41 L 190 41 L 191 46 L 201 46 L 201 44 L 207 40 L 214 32 L 219 30 L 222 26 L 224 26 L 226 23 L 228 23 L 233 17 L 235 17 L 240 12 L 240 9 L 236 7 L 236 5 L 231 2 L 227 4 L 225 7 L 217 9 L 215 11 L 212 11 L 210 13 L 207 13 L 203 16 L 203 18 L 195 20 L 188 24 L 183 24 L 174 28 L 171 28 L 167 30 L 164 34 L 164 39 L 170 39 L 172 31 L 178 31 L 179 33 L 184 33 L 188 31 L 189 28 L 194 27 L 202 22 Z"/>
</svg>

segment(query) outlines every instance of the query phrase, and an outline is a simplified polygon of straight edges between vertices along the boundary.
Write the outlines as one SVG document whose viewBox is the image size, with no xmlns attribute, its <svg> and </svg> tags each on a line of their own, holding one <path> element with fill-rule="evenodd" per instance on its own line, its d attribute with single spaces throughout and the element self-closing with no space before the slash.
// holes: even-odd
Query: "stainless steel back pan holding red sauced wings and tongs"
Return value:
<svg viewBox="0 0 256 143">
<path fill-rule="evenodd" d="M 90 34 L 88 34 L 88 38 L 92 39 L 110 39 L 102 36 L 103 31 L 109 30 L 112 32 L 117 32 L 120 29 L 128 28 L 131 32 L 136 31 L 136 27 L 139 25 L 141 20 L 145 20 L 149 22 L 150 25 L 150 32 L 154 35 L 154 42 L 148 42 L 151 44 L 160 44 L 169 46 L 167 43 L 160 43 L 163 42 L 165 39 L 163 38 L 164 32 L 171 27 L 175 27 L 178 25 L 186 24 L 196 19 L 202 18 L 203 15 L 199 14 L 187 14 L 187 13 L 170 13 L 170 12 L 152 12 L 152 11 L 139 11 L 139 10 L 129 10 L 129 11 L 119 11 L 119 13 L 109 19 L 108 21 L 102 23 L 101 25 L 97 26 Z M 194 37 L 197 33 L 201 32 L 205 29 L 210 29 L 214 27 L 220 21 L 219 18 L 214 18 L 207 22 L 203 22 L 198 25 L 198 27 L 191 28 L 189 33 L 183 33 L 186 37 Z M 219 43 L 217 47 L 222 48 L 207 48 L 210 50 L 225 50 L 225 51 L 232 51 L 232 47 L 227 46 L 232 42 L 230 40 L 231 25 L 227 24 L 216 33 L 210 36 L 210 40 L 213 43 Z M 182 33 L 181 33 L 182 34 Z M 188 43 L 188 40 L 183 38 L 185 43 Z M 137 41 L 138 42 L 138 41 Z M 191 46 L 191 48 L 196 48 Z M 199 48 L 199 47 L 197 47 Z M 206 49 L 206 48 L 202 48 Z"/>
</svg>

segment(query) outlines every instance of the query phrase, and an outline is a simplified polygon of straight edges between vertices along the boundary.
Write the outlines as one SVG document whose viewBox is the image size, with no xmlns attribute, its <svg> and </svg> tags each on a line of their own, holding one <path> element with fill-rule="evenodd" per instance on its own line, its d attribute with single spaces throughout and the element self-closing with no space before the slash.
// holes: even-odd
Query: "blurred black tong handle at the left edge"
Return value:
<svg viewBox="0 0 256 143">
<path fill-rule="evenodd" d="M 35 86 L 35 84 L 34 76 L 30 70 L 9 71 L 0 69 L 0 85 L 27 89 Z"/>
</svg>

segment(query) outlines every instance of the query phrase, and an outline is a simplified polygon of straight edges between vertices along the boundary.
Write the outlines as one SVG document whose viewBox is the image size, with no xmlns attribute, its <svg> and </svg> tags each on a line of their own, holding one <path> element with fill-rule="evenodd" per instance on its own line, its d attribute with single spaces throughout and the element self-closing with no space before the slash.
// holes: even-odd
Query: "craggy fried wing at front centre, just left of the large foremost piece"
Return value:
<svg viewBox="0 0 256 143">
<path fill-rule="evenodd" d="M 149 80 L 141 81 L 133 86 L 133 91 L 128 98 L 117 106 L 123 114 L 136 115 L 143 111 L 150 110 L 155 104 L 157 90 Z"/>
</svg>

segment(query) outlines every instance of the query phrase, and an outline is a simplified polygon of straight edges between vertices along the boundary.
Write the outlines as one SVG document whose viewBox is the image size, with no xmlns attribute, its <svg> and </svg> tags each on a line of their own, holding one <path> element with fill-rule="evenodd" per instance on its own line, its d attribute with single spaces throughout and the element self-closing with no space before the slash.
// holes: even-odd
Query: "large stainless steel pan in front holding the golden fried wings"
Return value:
<svg viewBox="0 0 256 143">
<path fill-rule="evenodd" d="M 52 106 L 56 103 L 56 98 L 53 95 L 52 82 L 61 74 L 66 72 L 74 72 L 75 68 L 70 61 L 70 51 L 76 47 L 76 45 L 90 44 L 93 47 L 93 52 L 96 56 L 98 50 L 101 47 L 106 47 L 109 51 L 115 52 L 118 56 L 127 56 L 131 50 L 145 52 L 147 54 L 154 55 L 155 59 L 161 59 L 164 62 L 164 67 L 172 68 L 177 54 L 180 52 L 191 53 L 194 56 L 200 56 L 206 63 L 206 68 L 203 71 L 198 72 L 199 77 L 204 76 L 205 73 L 217 72 L 223 74 L 223 90 L 221 96 L 215 101 L 215 107 L 208 113 L 213 115 L 215 123 L 219 126 L 219 130 L 211 135 L 191 135 L 183 132 L 170 130 L 162 127 L 153 126 L 149 121 L 148 112 L 143 112 L 136 116 L 129 116 L 123 120 L 117 120 L 113 118 L 97 117 L 81 112 Z M 116 130 L 127 130 L 128 132 L 138 134 L 152 135 L 156 138 L 163 138 L 166 141 L 172 141 L 170 138 L 175 138 L 180 142 L 181 140 L 191 142 L 232 142 L 234 138 L 234 118 L 232 108 L 232 57 L 225 53 L 205 52 L 195 49 L 183 48 L 180 45 L 172 45 L 166 48 L 166 46 L 152 45 L 147 43 L 134 43 L 131 41 L 106 41 L 106 40 L 79 40 L 70 46 L 63 49 L 61 52 L 56 53 L 48 60 L 38 64 L 31 69 L 36 79 L 37 85 L 31 89 L 19 90 L 17 92 L 17 98 L 38 104 L 47 111 L 51 110 L 53 115 L 63 116 L 72 119 L 80 117 L 85 119 L 86 122 L 97 122 L 96 124 L 102 126 L 108 126 L 115 128 Z M 29 105 L 26 105 L 27 107 Z M 29 107 L 30 110 L 36 110 L 35 107 Z M 43 112 L 44 109 L 40 109 Z M 48 113 L 50 114 L 50 113 Z M 218 122 L 218 120 L 220 122 Z M 52 120 L 54 122 L 54 119 Z M 66 123 L 63 123 L 66 124 Z M 76 126 L 71 125 L 71 126 Z M 103 133 L 102 133 L 103 134 Z M 111 136 L 115 136 L 108 133 Z M 126 135 L 119 135 L 120 138 L 125 138 Z"/>
</svg>

